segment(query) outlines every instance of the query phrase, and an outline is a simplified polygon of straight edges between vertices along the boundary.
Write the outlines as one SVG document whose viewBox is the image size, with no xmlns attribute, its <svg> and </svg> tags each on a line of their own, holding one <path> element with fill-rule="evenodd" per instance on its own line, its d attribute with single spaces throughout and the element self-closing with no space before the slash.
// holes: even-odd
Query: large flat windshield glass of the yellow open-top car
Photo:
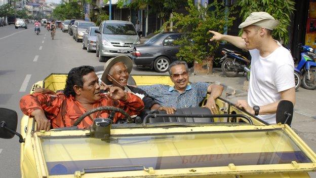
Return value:
<svg viewBox="0 0 316 178">
<path fill-rule="evenodd" d="M 120 171 L 126 171 L 124 166 L 157 170 L 229 163 L 238 166 L 311 162 L 283 130 L 111 136 L 108 141 L 90 137 L 41 138 L 41 141 L 50 175 L 98 167 L 119 167 Z"/>
</svg>

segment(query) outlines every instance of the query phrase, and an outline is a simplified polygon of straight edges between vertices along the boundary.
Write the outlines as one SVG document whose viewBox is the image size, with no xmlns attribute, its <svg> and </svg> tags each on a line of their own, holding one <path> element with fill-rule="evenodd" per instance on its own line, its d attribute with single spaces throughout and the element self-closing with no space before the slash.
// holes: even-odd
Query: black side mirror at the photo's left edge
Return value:
<svg viewBox="0 0 316 178">
<path fill-rule="evenodd" d="M 16 131 L 17 125 L 17 113 L 13 110 L 0 108 L 0 138 L 13 138 L 15 134 L 8 129 Z"/>
</svg>

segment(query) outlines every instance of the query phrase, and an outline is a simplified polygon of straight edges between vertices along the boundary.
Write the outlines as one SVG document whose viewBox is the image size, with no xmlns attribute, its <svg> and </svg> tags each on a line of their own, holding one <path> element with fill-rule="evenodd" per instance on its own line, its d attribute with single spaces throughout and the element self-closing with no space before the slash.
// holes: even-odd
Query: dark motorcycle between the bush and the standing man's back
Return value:
<svg viewBox="0 0 316 178">
<path fill-rule="evenodd" d="M 242 54 L 223 48 L 221 50 L 223 57 L 219 63 L 222 63 L 222 72 L 227 77 L 236 77 L 240 72 L 247 73 L 247 80 L 250 76 L 250 60 Z"/>
</svg>

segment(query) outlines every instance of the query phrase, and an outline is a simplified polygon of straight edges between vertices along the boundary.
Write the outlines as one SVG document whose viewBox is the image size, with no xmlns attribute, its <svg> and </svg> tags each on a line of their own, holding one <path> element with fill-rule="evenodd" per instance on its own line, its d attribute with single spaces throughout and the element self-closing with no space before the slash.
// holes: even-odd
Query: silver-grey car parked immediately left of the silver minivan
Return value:
<svg viewBox="0 0 316 178">
<path fill-rule="evenodd" d="M 84 33 L 83 49 L 87 49 L 88 52 L 96 50 L 97 33 L 94 30 L 98 28 L 98 26 L 89 27 Z"/>
</svg>

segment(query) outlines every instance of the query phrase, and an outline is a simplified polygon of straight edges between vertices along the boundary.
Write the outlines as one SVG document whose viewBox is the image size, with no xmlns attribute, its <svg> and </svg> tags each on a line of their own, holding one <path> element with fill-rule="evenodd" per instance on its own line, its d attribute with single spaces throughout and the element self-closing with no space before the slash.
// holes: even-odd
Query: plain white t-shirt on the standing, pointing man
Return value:
<svg viewBox="0 0 316 178">
<path fill-rule="evenodd" d="M 280 43 L 278 42 L 278 45 Z M 249 81 L 248 104 L 266 105 L 281 99 L 280 92 L 293 88 L 294 61 L 289 50 L 280 45 L 267 57 L 261 57 L 259 50 L 249 50 L 251 54 L 251 73 Z M 275 124 L 275 114 L 259 115 L 260 119 Z"/>
</svg>

